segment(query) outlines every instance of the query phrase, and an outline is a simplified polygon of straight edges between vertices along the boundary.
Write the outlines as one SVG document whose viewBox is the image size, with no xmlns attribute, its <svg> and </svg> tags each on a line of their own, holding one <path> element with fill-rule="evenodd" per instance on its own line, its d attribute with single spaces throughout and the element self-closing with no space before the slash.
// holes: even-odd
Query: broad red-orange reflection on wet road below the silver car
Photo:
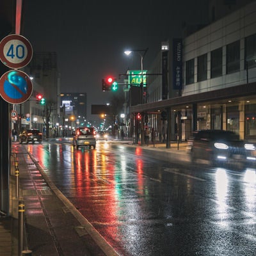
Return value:
<svg viewBox="0 0 256 256">
<path fill-rule="evenodd" d="M 77 167 L 74 175 L 77 205 L 84 205 L 81 213 L 88 220 L 109 226 L 106 234 L 113 234 L 115 239 L 118 230 L 113 228 L 113 223 L 118 221 L 116 196 L 120 193 L 116 191 L 115 166 L 112 164 L 115 163 L 115 157 L 104 151 L 99 154 L 97 150 L 77 150 L 74 157 Z"/>
</svg>

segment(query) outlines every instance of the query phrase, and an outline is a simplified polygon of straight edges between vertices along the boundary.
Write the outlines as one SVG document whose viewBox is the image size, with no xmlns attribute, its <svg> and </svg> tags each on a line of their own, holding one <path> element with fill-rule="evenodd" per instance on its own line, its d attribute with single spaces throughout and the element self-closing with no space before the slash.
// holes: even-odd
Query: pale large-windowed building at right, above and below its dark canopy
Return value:
<svg viewBox="0 0 256 256">
<path fill-rule="evenodd" d="M 231 97 L 234 86 L 253 86 L 256 81 L 255 12 L 253 2 L 184 39 L 182 96 L 230 90 L 230 98 L 198 104 L 197 129 L 225 129 L 256 138 L 255 95 Z"/>
</svg>

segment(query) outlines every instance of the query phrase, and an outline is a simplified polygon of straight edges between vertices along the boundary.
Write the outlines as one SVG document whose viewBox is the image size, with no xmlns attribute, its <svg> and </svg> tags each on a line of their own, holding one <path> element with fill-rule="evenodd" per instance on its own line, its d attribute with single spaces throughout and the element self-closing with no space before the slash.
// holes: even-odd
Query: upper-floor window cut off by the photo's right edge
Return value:
<svg viewBox="0 0 256 256">
<path fill-rule="evenodd" d="M 256 34 L 245 38 L 245 58 L 244 58 L 244 69 L 256 67 Z"/>
</svg>

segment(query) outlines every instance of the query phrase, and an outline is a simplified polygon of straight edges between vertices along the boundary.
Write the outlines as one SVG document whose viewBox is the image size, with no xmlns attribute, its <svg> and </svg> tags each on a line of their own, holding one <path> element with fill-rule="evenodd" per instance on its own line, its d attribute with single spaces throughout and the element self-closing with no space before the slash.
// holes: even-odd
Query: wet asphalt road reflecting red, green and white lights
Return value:
<svg viewBox="0 0 256 256">
<path fill-rule="evenodd" d="M 111 141 L 26 147 L 120 255 L 255 255 L 255 168 L 169 163 Z"/>
</svg>

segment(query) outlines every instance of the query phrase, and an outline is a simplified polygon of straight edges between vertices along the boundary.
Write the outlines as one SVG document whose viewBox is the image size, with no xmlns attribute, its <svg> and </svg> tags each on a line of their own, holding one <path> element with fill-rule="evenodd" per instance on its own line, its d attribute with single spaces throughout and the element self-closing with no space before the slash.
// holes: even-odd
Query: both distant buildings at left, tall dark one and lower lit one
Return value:
<svg viewBox="0 0 256 256">
<path fill-rule="evenodd" d="M 33 77 L 33 93 L 19 109 L 19 115 L 22 116 L 20 123 L 13 123 L 13 127 L 18 131 L 37 128 L 43 131 L 47 138 L 51 138 L 60 136 L 63 130 L 71 131 L 85 122 L 87 95 L 60 92 L 61 75 L 57 62 L 56 52 L 34 52 L 31 62 L 24 68 L 24 71 Z M 36 104 L 38 94 L 44 97 L 44 106 Z M 29 121 L 26 116 L 30 116 Z M 20 127 L 16 127 L 17 125 Z"/>
</svg>

